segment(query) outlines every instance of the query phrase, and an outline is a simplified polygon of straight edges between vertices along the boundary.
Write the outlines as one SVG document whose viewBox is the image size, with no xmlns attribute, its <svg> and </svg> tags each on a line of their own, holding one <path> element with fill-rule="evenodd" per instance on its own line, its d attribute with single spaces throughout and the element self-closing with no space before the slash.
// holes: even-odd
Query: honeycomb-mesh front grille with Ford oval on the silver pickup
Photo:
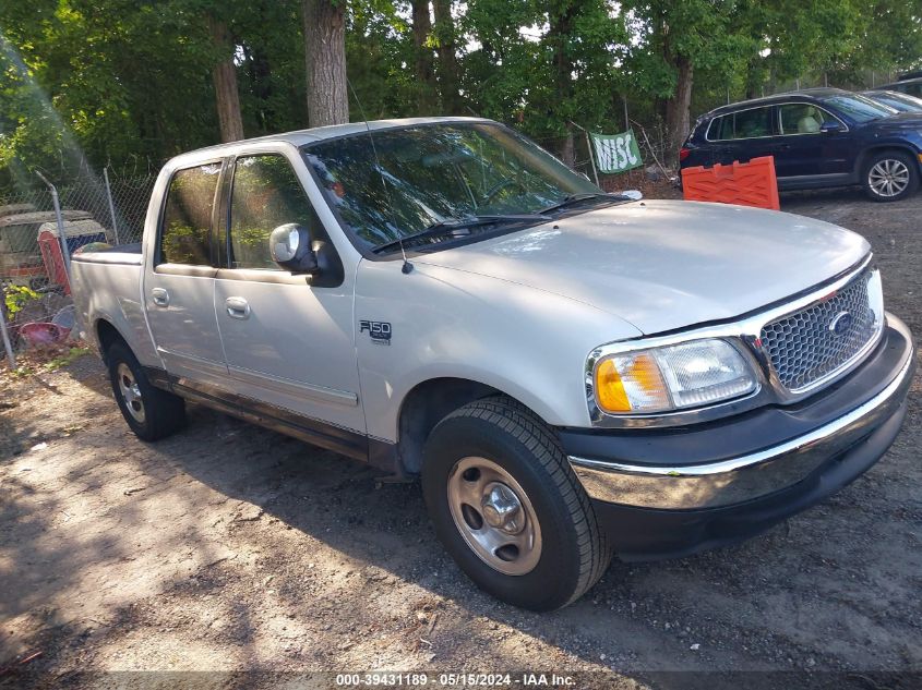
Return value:
<svg viewBox="0 0 922 690">
<path fill-rule="evenodd" d="M 833 296 L 762 328 L 762 347 L 778 380 L 800 391 L 834 375 L 875 337 L 878 322 L 865 270 Z"/>
</svg>

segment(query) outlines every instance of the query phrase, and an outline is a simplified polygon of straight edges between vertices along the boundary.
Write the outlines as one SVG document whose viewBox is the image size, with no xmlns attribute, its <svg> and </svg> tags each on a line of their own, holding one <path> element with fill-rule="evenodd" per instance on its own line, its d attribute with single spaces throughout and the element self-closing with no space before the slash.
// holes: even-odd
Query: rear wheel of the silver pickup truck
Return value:
<svg viewBox="0 0 922 690">
<path fill-rule="evenodd" d="M 182 428 L 185 424 L 185 402 L 179 396 L 152 386 L 127 344 L 113 342 L 106 352 L 106 361 L 116 402 L 137 438 L 146 441 L 159 440 Z M 127 389 L 134 392 L 125 392 Z M 133 395 L 137 397 L 127 399 Z"/>
</svg>

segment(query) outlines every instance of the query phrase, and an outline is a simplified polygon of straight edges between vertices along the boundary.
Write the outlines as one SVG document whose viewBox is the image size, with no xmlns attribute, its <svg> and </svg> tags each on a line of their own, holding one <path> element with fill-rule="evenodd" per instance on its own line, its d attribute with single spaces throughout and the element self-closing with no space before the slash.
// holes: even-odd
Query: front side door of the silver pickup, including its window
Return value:
<svg viewBox="0 0 922 690">
<path fill-rule="evenodd" d="M 310 230 L 314 243 L 330 241 L 292 161 L 282 152 L 265 152 L 241 155 L 231 166 L 214 311 L 232 389 L 264 403 L 266 414 L 310 432 L 364 434 L 352 276 L 312 285 L 311 277 L 272 261 L 268 238 L 278 226 L 296 222 Z"/>
</svg>

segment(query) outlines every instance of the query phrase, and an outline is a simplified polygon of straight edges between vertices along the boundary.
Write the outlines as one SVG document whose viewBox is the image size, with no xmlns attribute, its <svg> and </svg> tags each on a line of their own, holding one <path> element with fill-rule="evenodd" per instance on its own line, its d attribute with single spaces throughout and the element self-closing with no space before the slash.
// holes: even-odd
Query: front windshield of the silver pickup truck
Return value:
<svg viewBox="0 0 922 690">
<path fill-rule="evenodd" d="M 499 124 L 424 124 L 372 136 L 362 132 L 302 149 L 331 206 L 369 249 L 452 219 L 537 214 L 574 194 L 601 194 Z"/>
</svg>

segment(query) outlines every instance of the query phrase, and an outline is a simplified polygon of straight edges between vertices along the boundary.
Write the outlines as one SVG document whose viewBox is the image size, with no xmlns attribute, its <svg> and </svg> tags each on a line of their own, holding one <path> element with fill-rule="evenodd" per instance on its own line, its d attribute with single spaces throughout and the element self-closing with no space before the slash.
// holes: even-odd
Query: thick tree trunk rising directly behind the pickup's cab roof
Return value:
<svg viewBox="0 0 922 690">
<path fill-rule="evenodd" d="M 342 0 L 303 0 L 310 126 L 349 121 L 345 4 Z"/>
</svg>

